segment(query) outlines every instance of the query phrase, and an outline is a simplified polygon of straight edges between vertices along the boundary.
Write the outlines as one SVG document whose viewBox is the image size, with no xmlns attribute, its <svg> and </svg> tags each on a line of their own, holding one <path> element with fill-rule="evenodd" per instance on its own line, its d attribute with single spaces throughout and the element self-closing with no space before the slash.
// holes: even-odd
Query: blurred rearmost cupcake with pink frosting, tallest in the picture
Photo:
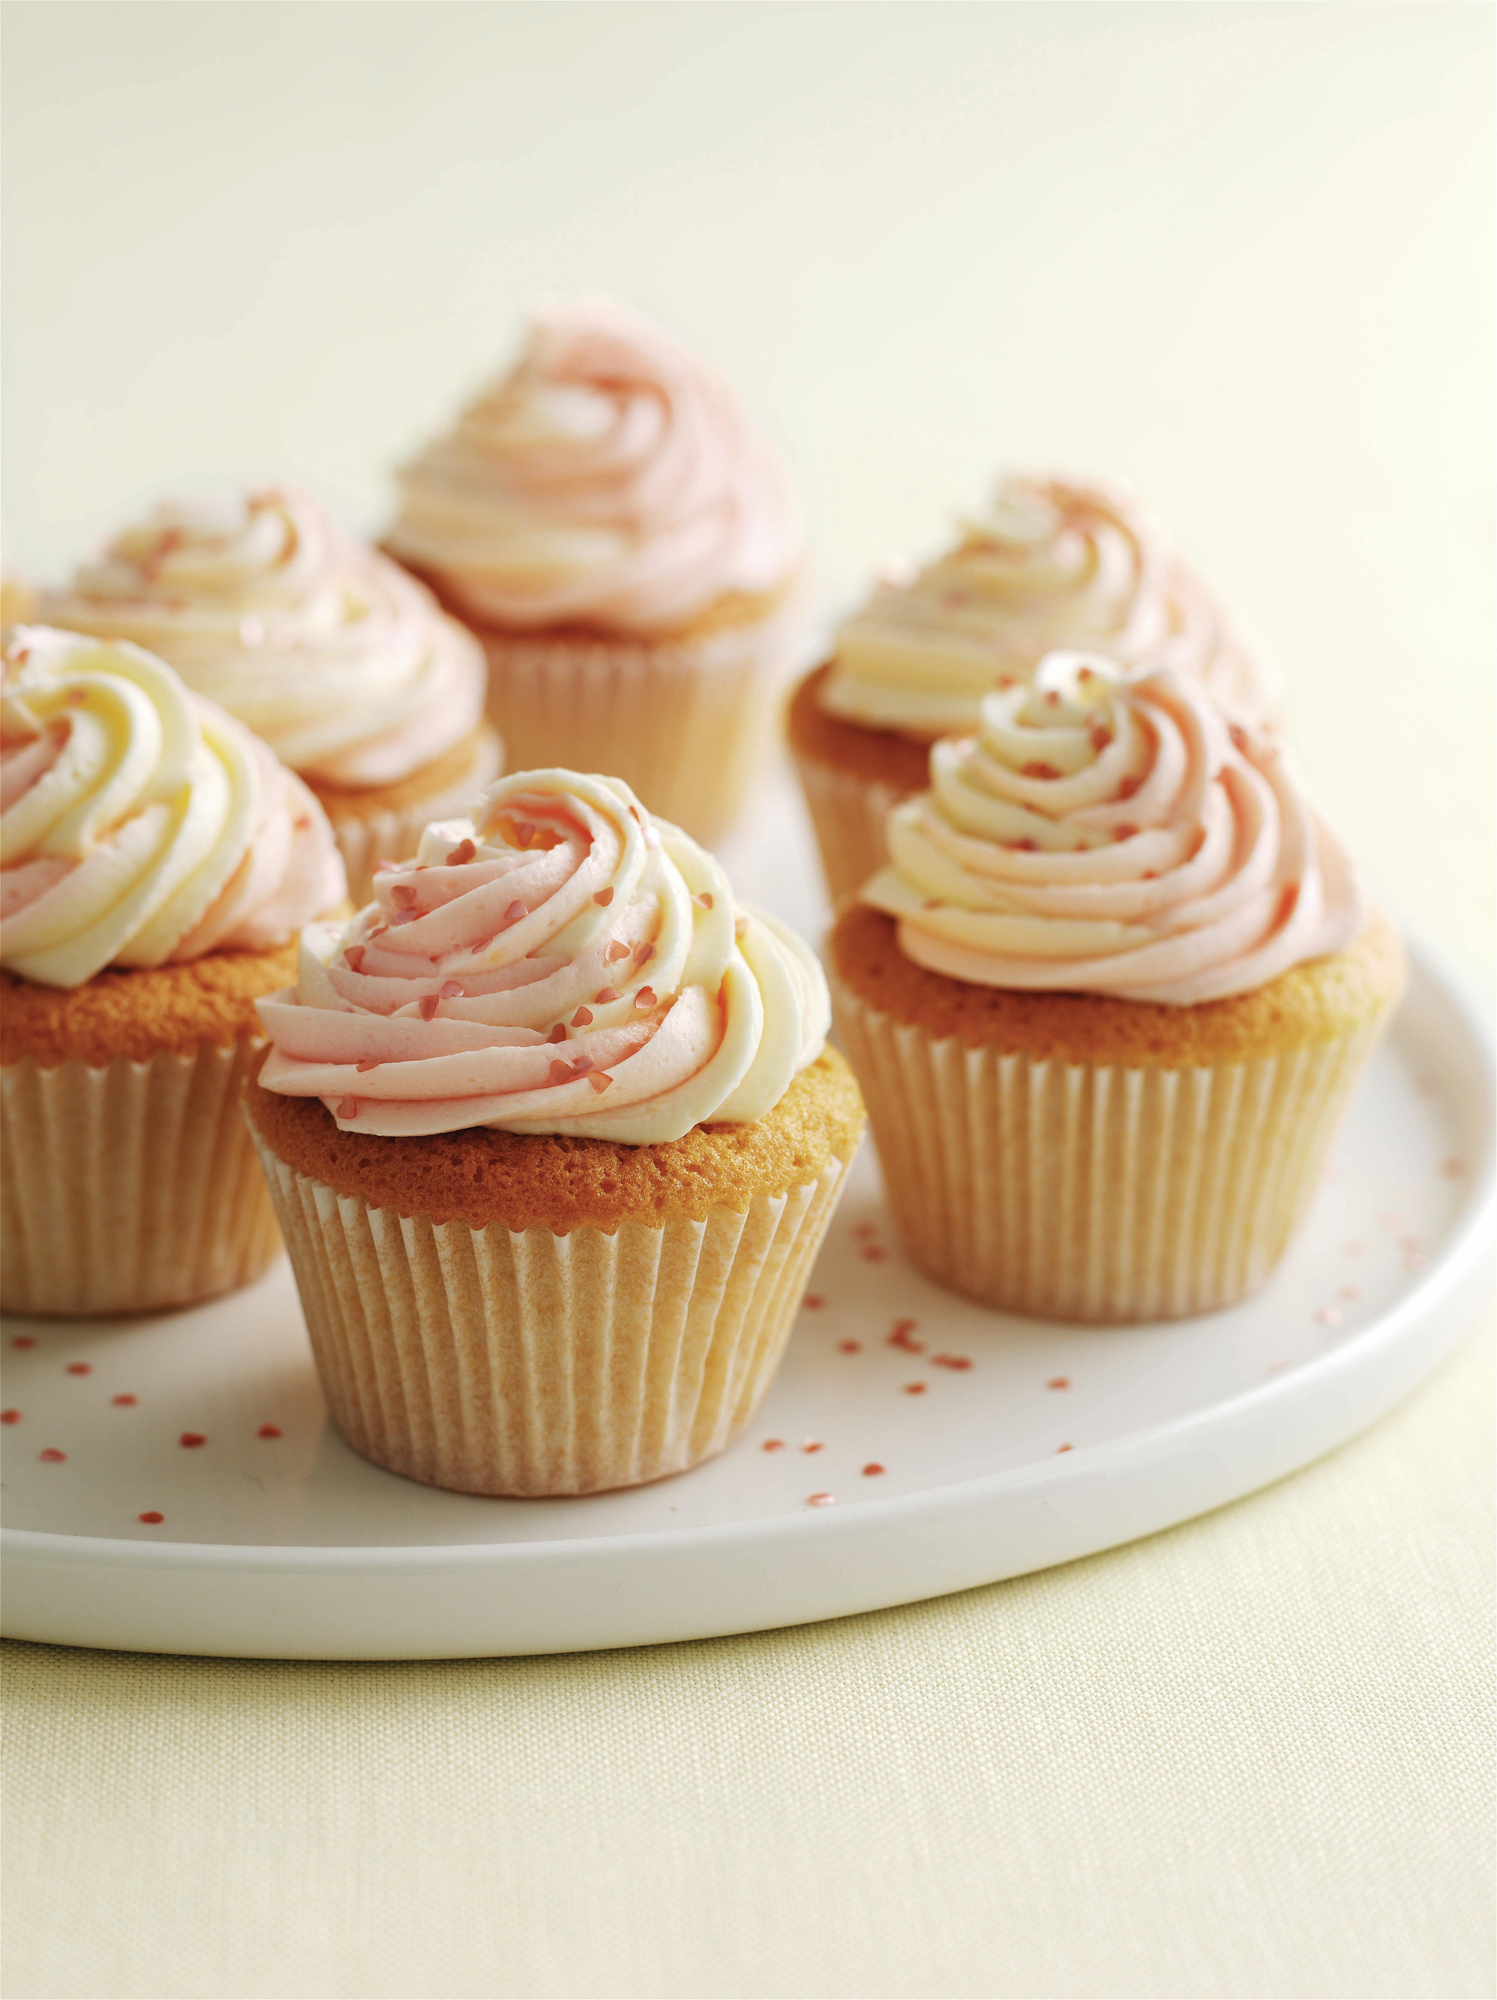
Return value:
<svg viewBox="0 0 1497 2000">
<path fill-rule="evenodd" d="M 612 770 L 726 832 L 803 608 L 785 476 L 728 384 L 578 300 L 400 480 L 386 546 L 484 642 L 510 762 Z"/>
</svg>

